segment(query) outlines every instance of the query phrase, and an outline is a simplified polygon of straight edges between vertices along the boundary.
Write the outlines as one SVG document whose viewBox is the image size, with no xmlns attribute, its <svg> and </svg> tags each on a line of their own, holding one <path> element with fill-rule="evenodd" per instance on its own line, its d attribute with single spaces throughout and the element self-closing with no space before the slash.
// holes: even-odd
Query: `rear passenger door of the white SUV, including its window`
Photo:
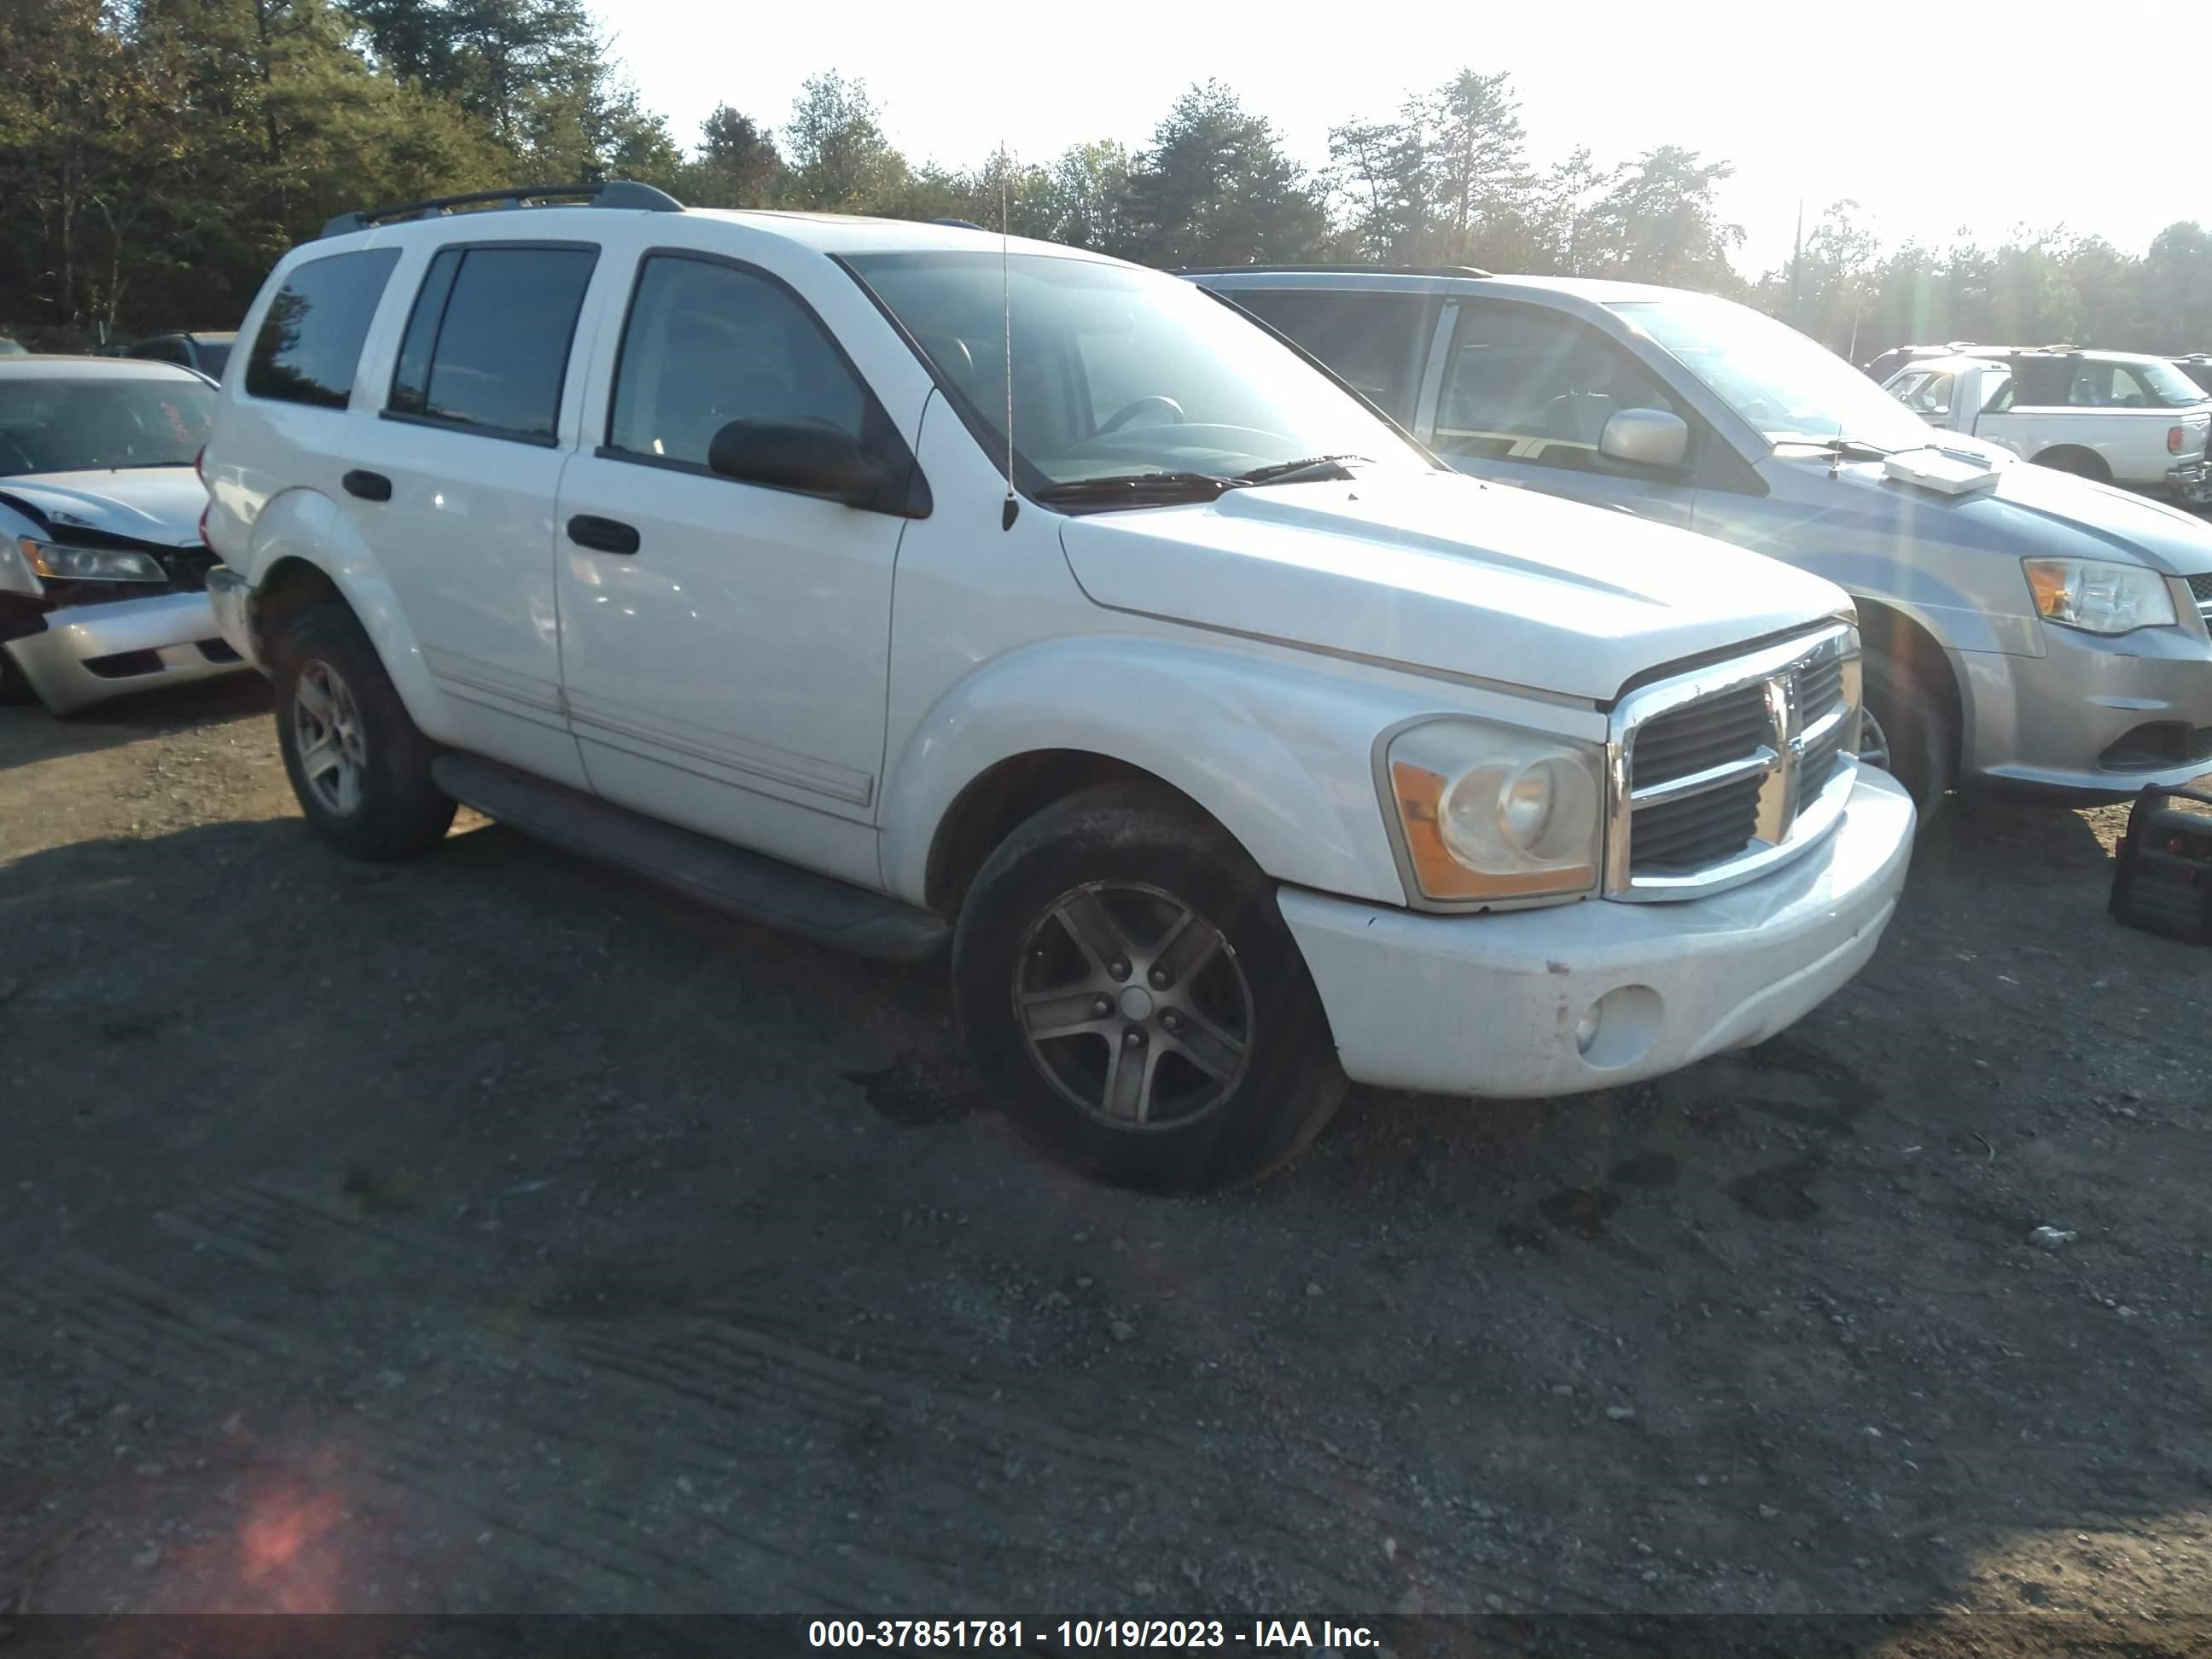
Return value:
<svg viewBox="0 0 2212 1659">
<path fill-rule="evenodd" d="M 392 380 L 354 420 L 338 495 L 460 745 L 575 787 L 586 776 L 562 710 L 553 509 L 597 268 L 599 243 L 584 239 L 453 243 L 411 265 Z"/>
</svg>

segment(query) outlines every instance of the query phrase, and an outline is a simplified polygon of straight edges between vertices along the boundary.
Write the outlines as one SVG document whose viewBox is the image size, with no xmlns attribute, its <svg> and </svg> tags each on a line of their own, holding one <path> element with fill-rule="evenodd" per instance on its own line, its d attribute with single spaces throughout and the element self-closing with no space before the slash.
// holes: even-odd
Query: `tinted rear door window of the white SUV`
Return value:
<svg viewBox="0 0 2212 1659">
<path fill-rule="evenodd" d="M 389 414 L 553 442 L 597 248 L 447 248 L 422 276 Z"/>
</svg>

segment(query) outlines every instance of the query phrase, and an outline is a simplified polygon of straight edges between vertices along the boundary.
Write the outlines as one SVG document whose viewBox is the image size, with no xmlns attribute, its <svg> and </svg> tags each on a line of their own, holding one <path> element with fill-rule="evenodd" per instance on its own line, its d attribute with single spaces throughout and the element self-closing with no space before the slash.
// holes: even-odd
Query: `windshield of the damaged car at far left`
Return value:
<svg viewBox="0 0 2212 1659">
<path fill-rule="evenodd" d="M 0 378 L 0 476 L 190 467 L 215 387 L 199 380 Z"/>
</svg>

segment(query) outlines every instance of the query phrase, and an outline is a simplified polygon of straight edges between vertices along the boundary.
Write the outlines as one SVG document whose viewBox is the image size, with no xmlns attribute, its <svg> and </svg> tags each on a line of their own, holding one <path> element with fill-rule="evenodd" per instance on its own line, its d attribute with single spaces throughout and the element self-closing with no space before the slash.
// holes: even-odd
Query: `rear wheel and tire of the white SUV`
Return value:
<svg viewBox="0 0 2212 1659">
<path fill-rule="evenodd" d="M 429 776 L 436 748 L 354 613 L 316 599 L 272 635 L 276 748 L 314 832 L 369 863 L 436 847 L 453 823 L 451 796 Z"/>
</svg>

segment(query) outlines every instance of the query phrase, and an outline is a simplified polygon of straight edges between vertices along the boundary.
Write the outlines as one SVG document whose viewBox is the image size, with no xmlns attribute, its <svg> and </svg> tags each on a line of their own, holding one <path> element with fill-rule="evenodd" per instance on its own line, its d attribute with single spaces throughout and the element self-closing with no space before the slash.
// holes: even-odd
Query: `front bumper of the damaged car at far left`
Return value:
<svg viewBox="0 0 2212 1659">
<path fill-rule="evenodd" d="M 206 593 L 155 593 L 49 611 L 44 633 L 9 639 L 0 650 L 15 659 L 38 701 L 55 714 L 246 668 L 223 644 Z"/>
</svg>

